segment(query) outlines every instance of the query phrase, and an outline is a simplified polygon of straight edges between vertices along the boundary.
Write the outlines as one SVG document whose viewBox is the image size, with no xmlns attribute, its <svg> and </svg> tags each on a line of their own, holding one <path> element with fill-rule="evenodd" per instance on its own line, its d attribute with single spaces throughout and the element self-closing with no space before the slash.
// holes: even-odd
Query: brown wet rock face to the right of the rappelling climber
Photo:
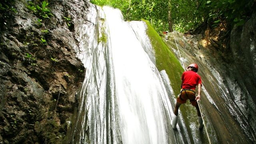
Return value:
<svg viewBox="0 0 256 144">
<path fill-rule="evenodd" d="M 190 63 L 199 66 L 203 86 L 200 102 L 205 120 L 211 122 L 212 128 L 207 127 L 216 132 L 213 143 L 256 142 L 255 21 L 256 13 L 243 26 L 235 27 L 230 46 L 229 40 L 220 41 L 221 33 L 213 34 L 216 31 L 201 36 L 173 32 L 176 41 L 172 34 L 160 34 L 184 67 Z"/>
</svg>

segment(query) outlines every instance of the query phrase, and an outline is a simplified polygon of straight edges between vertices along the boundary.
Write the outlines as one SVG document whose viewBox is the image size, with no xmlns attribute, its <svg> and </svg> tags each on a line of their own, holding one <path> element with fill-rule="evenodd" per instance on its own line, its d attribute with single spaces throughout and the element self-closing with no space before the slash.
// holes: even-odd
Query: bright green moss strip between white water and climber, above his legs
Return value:
<svg viewBox="0 0 256 144">
<path fill-rule="evenodd" d="M 147 34 L 155 50 L 156 67 L 159 71 L 166 71 L 176 97 L 180 93 L 180 78 L 184 69 L 176 59 L 171 49 L 164 43 L 151 24 L 146 20 L 143 21 L 148 25 Z"/>
</svg>

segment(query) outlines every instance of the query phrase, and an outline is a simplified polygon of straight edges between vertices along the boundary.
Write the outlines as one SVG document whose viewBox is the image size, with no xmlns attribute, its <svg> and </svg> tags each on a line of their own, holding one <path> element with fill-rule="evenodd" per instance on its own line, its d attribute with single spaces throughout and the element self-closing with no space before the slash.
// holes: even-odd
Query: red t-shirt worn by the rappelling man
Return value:
<svg viewBox="0 0 256 144">
<path fill-rule="evenodd" d="M 192 70 L 183 72 L 181 79 L 183 80 L 182 88 L 184 89 L 196 89 L 198 84 L 202 84 L 201 77 Z"/>
</svg>

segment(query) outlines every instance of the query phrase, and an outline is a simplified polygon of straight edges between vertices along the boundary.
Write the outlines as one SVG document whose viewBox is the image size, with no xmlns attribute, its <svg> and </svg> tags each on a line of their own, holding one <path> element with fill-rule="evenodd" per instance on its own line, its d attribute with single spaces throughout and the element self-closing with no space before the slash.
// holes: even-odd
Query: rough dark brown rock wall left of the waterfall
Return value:
<svg viewBox="0 0 256 144">
<path fill-rule="evenodd" d="M 84 80 L 73 18 L 86 1 L 48 0 L 49 18 L 13 1 L 18 13 L 0 15 L 0 144 L 61 143 Z"/>
</svg>

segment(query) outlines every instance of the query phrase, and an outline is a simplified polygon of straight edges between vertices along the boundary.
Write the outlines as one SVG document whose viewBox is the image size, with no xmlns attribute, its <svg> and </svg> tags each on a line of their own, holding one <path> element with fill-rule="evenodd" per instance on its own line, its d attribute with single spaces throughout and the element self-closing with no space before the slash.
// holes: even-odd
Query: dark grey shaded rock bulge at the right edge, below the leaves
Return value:
<svg viewBox="0 0 256 144">
<path fill-rule="evenodd" d="M 234 27 L 231 33 L 232 54 L 246 89 L 256 103 L 256 13 L 243 26 Z"/>
</svg>

